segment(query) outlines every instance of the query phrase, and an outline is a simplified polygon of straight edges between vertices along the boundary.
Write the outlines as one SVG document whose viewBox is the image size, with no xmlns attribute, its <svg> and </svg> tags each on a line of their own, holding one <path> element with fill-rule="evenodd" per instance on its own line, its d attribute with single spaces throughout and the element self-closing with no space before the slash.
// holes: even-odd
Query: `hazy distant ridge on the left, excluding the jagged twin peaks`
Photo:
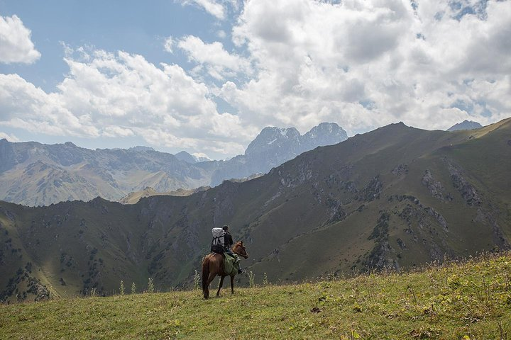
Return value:
<svg viewBox="0 0 511 340">
<path fill-rule="evenodd" d="M 157 191 L 208 183 L 211 170 L 150 148 L 84 149 L 0 140 L 0 197 L 26 205 L 62 200 L 116 200 L 147 186 Z"/>
</svg>

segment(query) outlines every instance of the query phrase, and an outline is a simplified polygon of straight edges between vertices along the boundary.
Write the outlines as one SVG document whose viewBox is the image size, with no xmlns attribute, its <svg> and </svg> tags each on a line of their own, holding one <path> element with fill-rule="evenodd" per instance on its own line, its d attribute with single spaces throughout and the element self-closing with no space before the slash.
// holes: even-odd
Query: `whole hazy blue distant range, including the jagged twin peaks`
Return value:
<svg viewBox="0 0 511 340">
<path fill-rule="evenodd" d="M 43 145 L 3 139 L 0 200 L 37 206 L 98 196 L 120 200 L 148 187 L 162 193 L 216 186 L 226 179 L 266 173 L 304 151 L 346 138 L 335 123 L 322 123 L 303 136 L 295 128 L 265 128 L 246 154 L 206 162 L 187 152 L 173 155 L 150 147 L 91 150 L 71 142 Z"/>
</svg>

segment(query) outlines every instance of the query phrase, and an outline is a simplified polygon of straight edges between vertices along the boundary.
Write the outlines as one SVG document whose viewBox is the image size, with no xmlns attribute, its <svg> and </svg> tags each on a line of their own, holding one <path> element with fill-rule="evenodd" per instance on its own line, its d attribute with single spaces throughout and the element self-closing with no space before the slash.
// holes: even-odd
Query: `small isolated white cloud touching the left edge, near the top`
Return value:
<svg viewBox="0 0 511 340">
<path fill-rule="evenodd" d="M 31 30 L 18 16 L 0 16 L 0 62 L 32 64 L 40 58 L 31 40 Z"/>
</svg>

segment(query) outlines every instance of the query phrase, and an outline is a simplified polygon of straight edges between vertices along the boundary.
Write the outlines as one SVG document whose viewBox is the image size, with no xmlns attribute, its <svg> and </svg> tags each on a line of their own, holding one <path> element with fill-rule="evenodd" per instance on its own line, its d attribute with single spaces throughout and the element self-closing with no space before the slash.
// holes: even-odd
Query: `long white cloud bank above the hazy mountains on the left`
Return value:
<svg viewBox="0 0 511 340">
<path fill-rule="evenodd" d="M 17 74 L 0 74 L 0 126 L 47 135 L 142 137 L 150 145 L 243 152 L 253 128 L 219 113 L 206 85 L 176 64 L 151 64 L 140 55 L 79 50 L 69 72 L 46 93 Z M 88 53 L 88 54 L 87 54 Z M 87 54 L 87 55 L 84 55 Z M 236 136 L 236 137 L 232 137 Z"/>
</svg>

